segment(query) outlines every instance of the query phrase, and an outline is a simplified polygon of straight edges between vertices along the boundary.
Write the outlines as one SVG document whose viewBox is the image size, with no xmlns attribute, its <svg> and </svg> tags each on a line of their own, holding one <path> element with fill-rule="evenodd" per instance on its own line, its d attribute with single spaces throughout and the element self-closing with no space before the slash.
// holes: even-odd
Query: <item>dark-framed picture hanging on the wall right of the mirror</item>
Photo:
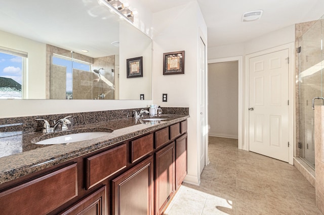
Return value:
<svg viewBox="0 0 324 215">
<path fill-rule="evenodd" d="M 184 51 L 163 53 L 163 74 L 184 74 Z"/>
</svg>

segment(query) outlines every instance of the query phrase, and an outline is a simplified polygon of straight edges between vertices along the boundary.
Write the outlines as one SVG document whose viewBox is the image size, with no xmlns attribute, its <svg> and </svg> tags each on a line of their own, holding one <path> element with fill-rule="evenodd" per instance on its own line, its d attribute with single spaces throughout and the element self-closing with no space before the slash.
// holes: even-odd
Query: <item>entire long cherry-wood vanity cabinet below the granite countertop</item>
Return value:
<svg viewBox="0 0 324 215">
<path fill-rule="evenodd" d="M 182 121 L 0 186 L 1 214 L 162 214 L 187 174 Z"/>
</svg>

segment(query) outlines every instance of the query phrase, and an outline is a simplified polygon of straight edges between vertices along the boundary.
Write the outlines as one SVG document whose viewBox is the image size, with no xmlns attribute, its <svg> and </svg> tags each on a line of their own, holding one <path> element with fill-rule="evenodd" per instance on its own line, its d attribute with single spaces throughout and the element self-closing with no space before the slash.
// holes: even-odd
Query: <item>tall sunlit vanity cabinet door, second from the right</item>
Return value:
<svg viewBox="0 0 324 215">
<path fill-rule="evenodd" d="M 155 153 L 155 211 L 161 214 L 175 192 L 175 143 Z"/>
</svg>

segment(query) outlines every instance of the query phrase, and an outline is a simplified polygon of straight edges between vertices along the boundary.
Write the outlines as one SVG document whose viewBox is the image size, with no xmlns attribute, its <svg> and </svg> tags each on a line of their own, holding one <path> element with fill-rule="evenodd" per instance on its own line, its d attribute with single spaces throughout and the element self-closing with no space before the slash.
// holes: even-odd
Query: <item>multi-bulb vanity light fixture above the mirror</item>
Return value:
<svg viewBox="0 0 324 215">
<path fill-rule="evenodd" d="M 123 4 L 119 0 L 98 0 L 98 4 L 101 6 L 106 6 L 110 10 L 118 13 L 125 20 L 133 24 L 134 14 L 130 9 L 127 3 Z"/>
</svg>

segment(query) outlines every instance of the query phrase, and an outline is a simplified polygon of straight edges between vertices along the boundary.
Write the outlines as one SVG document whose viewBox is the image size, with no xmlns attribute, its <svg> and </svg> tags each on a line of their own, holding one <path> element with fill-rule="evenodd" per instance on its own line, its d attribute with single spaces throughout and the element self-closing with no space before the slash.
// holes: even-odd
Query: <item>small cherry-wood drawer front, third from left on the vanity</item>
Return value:
<svg viewBox="0 0 324 215">
<path fill-rule="evenodd" d="M 153 134 L 131 141 L 131 163 L 153 151 Z"/>
</svg>

